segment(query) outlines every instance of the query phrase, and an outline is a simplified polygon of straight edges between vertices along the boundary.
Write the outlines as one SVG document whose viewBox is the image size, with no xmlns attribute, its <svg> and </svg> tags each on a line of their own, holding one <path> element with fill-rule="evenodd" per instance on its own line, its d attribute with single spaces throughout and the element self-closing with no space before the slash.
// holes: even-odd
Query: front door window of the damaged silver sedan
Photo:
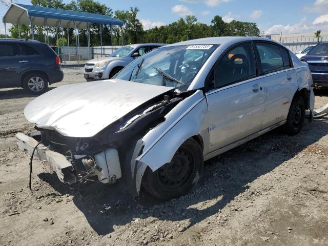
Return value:
<svg viewBox="0 0 328 246">
<path fill-rule="evenodd" d="M 216 88 L 228 86 L 256 75 L 251 43 L 244 43 L 226 52 L 214 67 L 210 79 Z M 211 86 L 210 86 L 211 87 Z"/>
</svg>

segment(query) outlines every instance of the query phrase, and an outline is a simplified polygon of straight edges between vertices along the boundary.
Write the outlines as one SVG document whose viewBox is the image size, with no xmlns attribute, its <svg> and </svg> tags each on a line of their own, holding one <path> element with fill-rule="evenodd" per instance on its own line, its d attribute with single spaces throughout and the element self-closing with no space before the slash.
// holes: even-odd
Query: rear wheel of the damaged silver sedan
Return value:
<svg viewBox="0 0 328 246">
<path fill-rule="evenodd" d="M 286 124 L 284 125 L 285 133 L 288 135 L 296 135 L 299 133 L 303 128 L 304 118 L 304 99 L 301 96 L 295 96 L 288 112 Z"/>
</svg>

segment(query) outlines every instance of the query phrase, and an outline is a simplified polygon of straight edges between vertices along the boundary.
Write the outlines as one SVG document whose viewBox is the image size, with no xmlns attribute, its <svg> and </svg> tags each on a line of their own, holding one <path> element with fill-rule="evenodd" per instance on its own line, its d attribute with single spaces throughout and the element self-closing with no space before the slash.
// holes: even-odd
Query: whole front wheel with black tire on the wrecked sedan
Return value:
<svg viewBox="0 0 328 246">
<path fill-rule="evenodd" d="M 203 169 L 203 153 L 194 139 L 185 141 L 170 163 L 152 172 L 146 169 L 142 187 L 160 200 L 170 200 L 187 194 L 198 182 Z"/>
</svg>

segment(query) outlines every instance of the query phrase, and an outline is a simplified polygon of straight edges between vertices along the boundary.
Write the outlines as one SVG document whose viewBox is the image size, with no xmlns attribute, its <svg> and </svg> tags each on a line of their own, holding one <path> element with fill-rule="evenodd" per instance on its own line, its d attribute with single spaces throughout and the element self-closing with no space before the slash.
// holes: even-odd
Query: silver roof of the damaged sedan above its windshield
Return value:
<svg viewBox="0 0 328 246">
<path fill-rule="evenodd" d="M 188 41 L 183 41 L 179 43 L 175 43 L 172 45 L 168 46 L 177 46 L 177 45 L 233 45 L 235 43 L 243 42 L 243 41 L 248 41 L 248 40 L 262 40 L 262 41 L 267 41 L 267 42 L 272 42 L 272 43 L 277 43 L 275 40 L 269 39 L 269 38 L 263 38 L 263 37 L 251 37 L 251 36 L 243 36 L 243 37 L 230 37 L 230 36 L 224 36 L 224 37 L 206 37 L 206 38 L 198 38 L 198 39 L 193 39 L 193 40 L 188 40 Z M 281 44 L 279 44 L 281 45 Z"/>
</svg>

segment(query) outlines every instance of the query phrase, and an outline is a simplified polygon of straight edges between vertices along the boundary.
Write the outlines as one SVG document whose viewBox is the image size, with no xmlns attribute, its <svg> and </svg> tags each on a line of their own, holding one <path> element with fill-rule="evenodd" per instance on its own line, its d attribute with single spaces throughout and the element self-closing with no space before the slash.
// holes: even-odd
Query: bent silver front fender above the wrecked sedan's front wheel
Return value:
<svg viewBox="0 0 328 246">
<path fill-rule="evenodd" d="M 171 110 L 162 124 L 142 138 L 144 148 L 136 160 L 156 171 L 171 161 L 188 138 L 195 135 L 207 138 L 207 110 L 206 98 L 201 90 L 197 90 Z"/>
</svg>

